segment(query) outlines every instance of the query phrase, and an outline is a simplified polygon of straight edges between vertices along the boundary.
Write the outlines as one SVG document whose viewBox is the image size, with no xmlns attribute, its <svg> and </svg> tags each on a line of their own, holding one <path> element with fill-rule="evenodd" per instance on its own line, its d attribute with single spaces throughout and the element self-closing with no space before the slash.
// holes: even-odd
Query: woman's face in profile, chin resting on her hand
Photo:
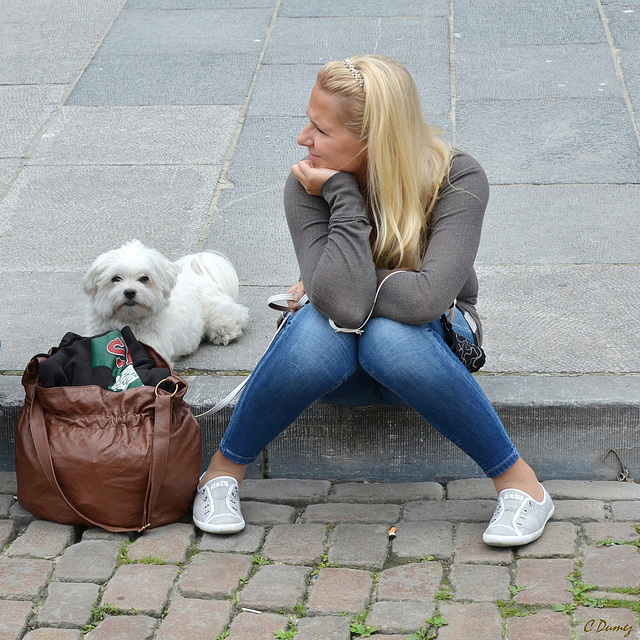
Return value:
<svg viewBox="0 0 640 640">
<path fill-rule="evenodd" d="M 366 167 L 367 143 L 340 123 L 341 96 L 313 87 L 307 116 L 309 124 L 300 132 L 297 142 L 307 147 L 309 160 L 315 167 L 360 173 Z"/>
</svg>

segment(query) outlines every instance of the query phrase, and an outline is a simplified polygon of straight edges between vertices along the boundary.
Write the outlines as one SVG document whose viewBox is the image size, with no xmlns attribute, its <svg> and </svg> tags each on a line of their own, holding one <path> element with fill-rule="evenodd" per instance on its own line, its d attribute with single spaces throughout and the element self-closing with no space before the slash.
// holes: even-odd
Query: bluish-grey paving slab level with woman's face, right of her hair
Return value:
<svg viewBox="0 0 640 640">
<path fill-rule="evenodd" d="M 491 183 L 620 184 L 640 176 L 635 133 L 621 124 L 623 98 L 460 100 L 456 114 L 458 144 Z"/>
</svg>

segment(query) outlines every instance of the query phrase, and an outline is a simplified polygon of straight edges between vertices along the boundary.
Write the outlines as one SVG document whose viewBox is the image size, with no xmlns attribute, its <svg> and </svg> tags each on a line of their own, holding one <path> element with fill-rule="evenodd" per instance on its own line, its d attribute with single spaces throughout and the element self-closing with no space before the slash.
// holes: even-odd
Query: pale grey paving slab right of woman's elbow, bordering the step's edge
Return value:
<svg viewBox="0 0 640 640">
<path fill-rule="evenodd" d="M 484 299 L 490 301 L 482 304 L 483 323 L 487 328 L 500 326 L 499 332 L 490 329 L 485 332 L 483 347 L 489 353 L 487 373 L 547 372 L 562 376 L 567 371 L 584 374 L 599 371 L 606 376 L 636 370 L 629 350 L 623 346 L 622 335 L 623 326 L 635 326 L 638 322 L 633 308 L 621 307 L 621 324 L 603 323 L 587 328 L 580 305 L 589 295 L 594 314 L 606 317 L 612 297 L 624 298 L 623 289 L 633 289 L 638 282 L 636 267 L 482 265 L 478 274 Z M 509 280 L 509 287 L 504 286 L 505 279 Z M 518 292 L 524 290 L 530 291 L 531 296 L 522 298 Z M 515 299 L 517 309 L 513 305 Z M 526 342 L 520 340 L 522 318 L 527 318 Z M 517 344 L 518 348 L 504 349 L 502 344 Z M 600 458 L 609 448 L 602 453 L 598 451 Z"/>
</svg>

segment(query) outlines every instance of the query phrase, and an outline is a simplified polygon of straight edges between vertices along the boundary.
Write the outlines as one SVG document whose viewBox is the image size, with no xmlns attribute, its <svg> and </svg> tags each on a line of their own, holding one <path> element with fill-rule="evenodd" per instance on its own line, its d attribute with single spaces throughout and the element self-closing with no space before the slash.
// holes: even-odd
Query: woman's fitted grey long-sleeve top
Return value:
<svg viewBox="0 0 640 640">
<path fill-rule="evenodd" d="M 373 262 L 371 221 L 354 176 L 335 174 L 321 193 L 322 197 L 310 196 L 293 173 L 289 175 L 284 206 L 300 276 L 320 313 L 340 326 L 359 327 L 371 310 L 377 282 L 388 272 L 376 269 Z M 456 151 L 432 212 L 420 271 L 390 277 L 382 285 L 374 316 L 426 324 L 457 300 L 476 322 L 481 344 L 473 263 L 488 198 L 482 167 Z"/>
</svg>

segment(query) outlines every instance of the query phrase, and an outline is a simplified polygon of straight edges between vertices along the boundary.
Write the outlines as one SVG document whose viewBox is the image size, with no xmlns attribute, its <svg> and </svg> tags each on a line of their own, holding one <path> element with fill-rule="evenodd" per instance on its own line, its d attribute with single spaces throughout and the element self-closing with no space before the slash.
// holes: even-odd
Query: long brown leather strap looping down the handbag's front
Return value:
<svg viewBox="0 0 640 640">
<path fill-rule="evenodd" d="M 177 386 L 176 386 L 177 391 Z M 154 437 L 151 451 L 151 464 L 149 468 L 149 481 L 147 484 L 147 491 L 145 496 L 145 505 L 142 516 L 142 524 L 139 531 L 143 531 L 151 526 L 150 517 L 153 513 L 155 503 L 158 498 L 162 479 L 167 468 L 167 460 L 169 456 L 169 439 L 171 434 L 171 404 L 174 394 L 158 393 L 156 387 L 156 399 L 155 399 L 155 412 L 154 412 Z M 102 522 L 97 522 L 84 513 L 80 512 L 76 507 L 71 504 L 67 496 L 65 495 L 62 487 L 58 483 L 56 472 L 53 467 L 53 458 L 51 456 L 51 445 L 47 435 L 47 425 L 44 419 L 44 411 L 40 405 L 40 401 L 37 398 L 35 389 L 33 390 L 33 396 L 31 398 L 31 405 L 29 408 L 29 430 L 31 431 L 31 438 L 38 456 L 40 466 L 47 478 L 49 484 L 55 488 L 60 497 L 65 501 L 67 506 L 80 518 L 86 520 L 96 527 L 101 527 L 107 531 L 114 533 L 121 531 L 131 531 L 130 528 L 114 527 Z"/>
</svg>

